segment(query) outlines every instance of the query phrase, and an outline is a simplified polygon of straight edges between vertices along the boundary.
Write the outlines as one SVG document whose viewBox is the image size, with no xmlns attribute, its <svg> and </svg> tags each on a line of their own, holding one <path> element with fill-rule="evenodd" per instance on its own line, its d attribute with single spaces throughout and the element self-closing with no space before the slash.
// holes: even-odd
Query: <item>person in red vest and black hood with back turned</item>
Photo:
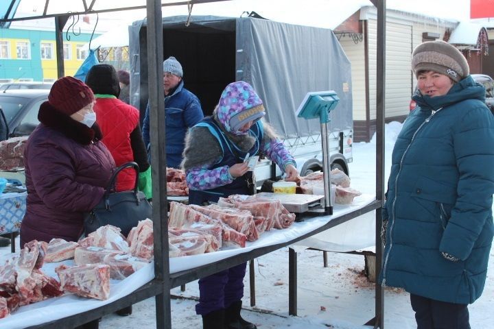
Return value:
<svg viewBox="0 0 494 329">
<path fill-rule="evenodd" d="M 95 94 L 94 110 L 96 122 L 104 135 L 103 143 L 117 167 L 130 161 L 139 164 L 139 189 L 150 198 L 151 169 L 139 125 L 139 110 L 117 98 L 120 94 L 119 79 L 117 71 L 109 64 L 93 66 L 86 77 L 86 84 Z M 132 190 L 135 180 L 134 169 L 121 171 L 117 177 L 117 191 Z"/>
</svg>

